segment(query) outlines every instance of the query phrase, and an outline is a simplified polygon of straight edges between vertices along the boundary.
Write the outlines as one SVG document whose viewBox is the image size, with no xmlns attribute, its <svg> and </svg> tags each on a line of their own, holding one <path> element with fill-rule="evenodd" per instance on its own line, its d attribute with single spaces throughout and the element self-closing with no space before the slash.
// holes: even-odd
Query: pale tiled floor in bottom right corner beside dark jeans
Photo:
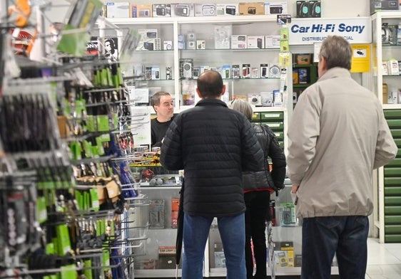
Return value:
<svg viewBox="0 0 401 279">
<path fill-rule="evenodd" d="M 379 243 L 367 240 L 367 270 L 365 279 L 400 279 L 401 243 Z"/>
</svg>

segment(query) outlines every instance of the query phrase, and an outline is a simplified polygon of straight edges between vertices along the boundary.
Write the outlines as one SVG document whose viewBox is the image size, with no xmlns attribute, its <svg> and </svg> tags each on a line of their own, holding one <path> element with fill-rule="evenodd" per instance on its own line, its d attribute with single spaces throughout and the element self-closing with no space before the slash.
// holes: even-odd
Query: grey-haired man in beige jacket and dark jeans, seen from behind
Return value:
<svg viewBox="0 0 401 279">
<path fill-rule="evenodd" d="M 288 128 L 288 176 L 303 218 L 301 278 L 365 278 L 372 171 L 397 153 L 382 105 L 351 78 L 352 48 L 329 36 L 319 54 L 317 83 L 300 98 Z"/>
</svg>

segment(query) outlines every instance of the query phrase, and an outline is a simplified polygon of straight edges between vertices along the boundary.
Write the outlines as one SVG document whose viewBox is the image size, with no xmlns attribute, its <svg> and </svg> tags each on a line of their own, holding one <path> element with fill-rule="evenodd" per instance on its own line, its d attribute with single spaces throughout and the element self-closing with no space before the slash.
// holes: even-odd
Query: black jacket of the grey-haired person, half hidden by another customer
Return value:
<svg viewBox="0 0 401 279">
<path fill-rule="evenodd" d="M 244 191 L 246 193 L 248 191 L 268 190 L 269 188 L 274 191 L 283 189 L 285 167 L 287 166 L 283 149 L 280 147 L 277 137 L 268 125 L 252 123 L 252 126 L 255 129 L 258 142 L 265 155 L 264 166 L 268 168 L 268 157 L 270 157 L 273 169 L 272 172 L 265 172 L 264 169 L 256 172 L 243 172 Z"/>
</svg>

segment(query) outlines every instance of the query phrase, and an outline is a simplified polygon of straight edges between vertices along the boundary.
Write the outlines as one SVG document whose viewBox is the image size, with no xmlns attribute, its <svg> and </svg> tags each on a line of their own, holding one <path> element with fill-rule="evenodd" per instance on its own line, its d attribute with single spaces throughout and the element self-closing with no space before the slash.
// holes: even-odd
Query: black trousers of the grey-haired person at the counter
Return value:
<svg viewBox="0 0 401 279">
<path fill-rule="evenodd" d="M 246 278 L 253 278 L 253 257 L 250 240 L 253 242 L 256 273 L 255 278 L 265 279 L 266 274 L 266 219 L 268 215 L 270 192 L 252 191 L 244 194 L 245 211 L 245 263 Z"/>
</svg>

